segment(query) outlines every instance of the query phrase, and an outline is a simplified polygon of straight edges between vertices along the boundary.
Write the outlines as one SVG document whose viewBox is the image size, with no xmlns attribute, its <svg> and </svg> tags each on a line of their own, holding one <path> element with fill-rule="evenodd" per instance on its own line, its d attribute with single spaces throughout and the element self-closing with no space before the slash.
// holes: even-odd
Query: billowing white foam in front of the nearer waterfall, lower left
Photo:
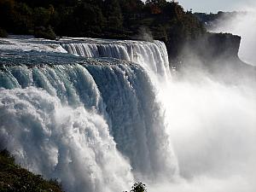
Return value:
<svg viewBox="0 0 256 192">
<path fill-rule="evenodd" d="M 35 87 L 0 91 L 0 144 L 22 166 L 61 179 L 68 191 L 129 189 L 131 166 L 101 115 L 65 107 Z"/>
</svg>

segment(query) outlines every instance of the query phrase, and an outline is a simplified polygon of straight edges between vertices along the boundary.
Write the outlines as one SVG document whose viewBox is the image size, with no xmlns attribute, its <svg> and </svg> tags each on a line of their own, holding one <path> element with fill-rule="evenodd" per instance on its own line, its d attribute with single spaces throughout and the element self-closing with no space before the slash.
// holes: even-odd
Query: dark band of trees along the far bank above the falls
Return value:
<svg viewBox="0 0 256 192">
<path fill-rule="evenodd" d="M 183 44 L 206 32 L 179 3 L 166 0 L 0 0 L 0 33 L 143 39 Z M 172 54 L 177 49 L 170 48 Z"/>
</svg>

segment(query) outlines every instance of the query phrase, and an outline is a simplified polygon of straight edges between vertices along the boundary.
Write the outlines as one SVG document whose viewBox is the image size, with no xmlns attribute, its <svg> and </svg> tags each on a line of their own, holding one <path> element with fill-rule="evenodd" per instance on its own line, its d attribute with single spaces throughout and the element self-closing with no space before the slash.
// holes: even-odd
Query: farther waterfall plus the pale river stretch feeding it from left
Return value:
<svg viewBox="0 0 256 192">
<path fill-rule="evenodd" d="M 0 40 L 0 49 L 61 52 L 83 57 L 112 57 L 141 65 L 153 81 L 170 79 L 166 45 L 160 41 L 108 40 L 97 38 L 61 38 L 59 41 L 11 36 Z"/>
</svg>

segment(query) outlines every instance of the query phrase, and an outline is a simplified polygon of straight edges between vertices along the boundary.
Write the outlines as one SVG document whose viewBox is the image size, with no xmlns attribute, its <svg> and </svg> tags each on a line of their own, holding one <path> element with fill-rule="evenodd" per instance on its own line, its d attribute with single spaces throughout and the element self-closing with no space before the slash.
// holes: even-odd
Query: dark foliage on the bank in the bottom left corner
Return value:
<svg viewBox="0 0 256 192">
<path fill-rule="evenodd" d="M 61 192 L 56 179 L 45 180 L 15 164 L 15 158 L 6 149 L 0 152 L 0 191 Z"/>
</svg>

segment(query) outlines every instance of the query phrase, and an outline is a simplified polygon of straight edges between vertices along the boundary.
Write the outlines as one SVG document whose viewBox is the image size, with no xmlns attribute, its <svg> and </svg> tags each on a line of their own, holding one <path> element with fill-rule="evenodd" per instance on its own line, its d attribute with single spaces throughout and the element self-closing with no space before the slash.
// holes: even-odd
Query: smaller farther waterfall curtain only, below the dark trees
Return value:
<svg viewBox="0 0 256 192">
<path fill-rule="evenodd" d="M 87 41 L 89 41 L 87 39 Z M 153 81 L 170 79 L 166 45 L 160 41 L 111 41 L 94 40 L 61 44 L 68 53 L 84 57 L 112 57 L 136 62 L 147 70 Z"/>
</svg>

